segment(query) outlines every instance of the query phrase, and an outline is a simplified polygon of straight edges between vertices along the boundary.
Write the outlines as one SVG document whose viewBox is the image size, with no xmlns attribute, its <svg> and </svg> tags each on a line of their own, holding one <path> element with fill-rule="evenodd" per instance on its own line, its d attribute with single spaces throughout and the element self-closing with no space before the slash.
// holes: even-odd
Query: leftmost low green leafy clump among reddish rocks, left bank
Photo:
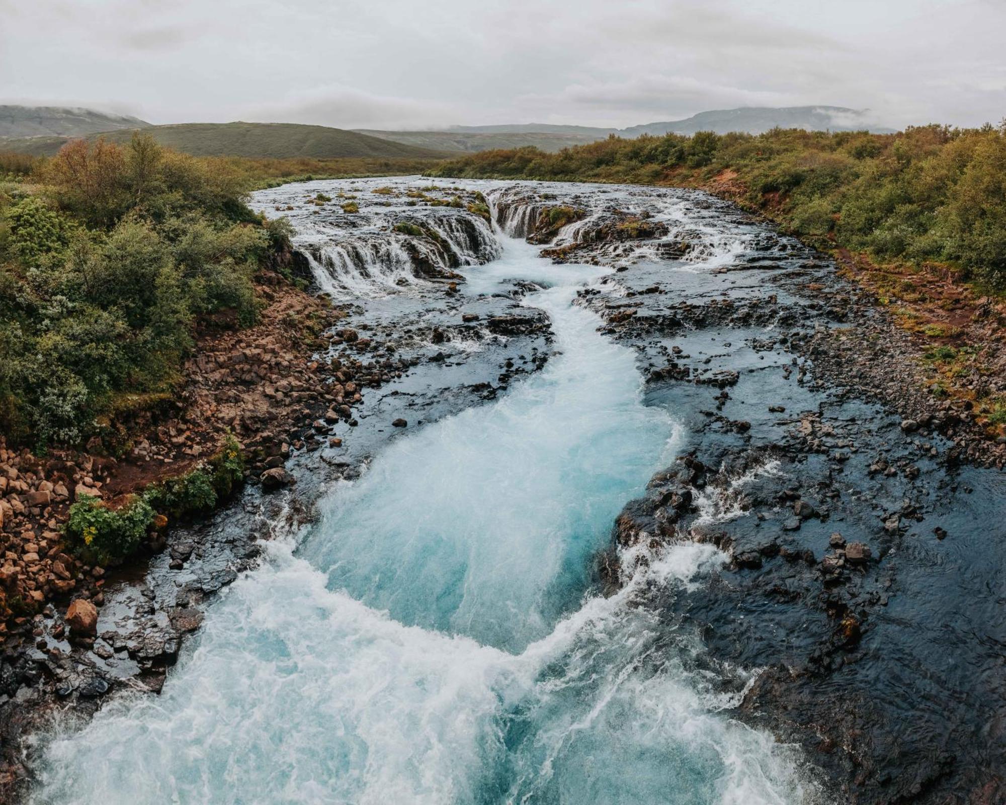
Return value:
<svg viewBox="0 0 1006 805">
<path fill-rule="evenodd" d="M 132 553 L 154 523 L 154 510 L 142 497 L 110 509 L 99 498 L 85 496 L 69 508 L 66 535 L 74 548 L 102 565 Z"/>
</svg>

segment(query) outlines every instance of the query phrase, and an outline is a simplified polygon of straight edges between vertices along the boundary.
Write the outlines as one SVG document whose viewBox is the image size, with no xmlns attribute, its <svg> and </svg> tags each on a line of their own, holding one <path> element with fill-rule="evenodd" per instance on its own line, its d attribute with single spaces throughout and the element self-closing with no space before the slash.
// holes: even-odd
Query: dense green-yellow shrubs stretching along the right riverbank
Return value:
<svg viewBox="0 0 1006 805">
<path fill-rule="evenodd" d="M 434 174 L 713 186 L 821 246 L 1006 288 L 1006 127 L 611 137 L 557 154 L 483 152 Z"/>
</svg>

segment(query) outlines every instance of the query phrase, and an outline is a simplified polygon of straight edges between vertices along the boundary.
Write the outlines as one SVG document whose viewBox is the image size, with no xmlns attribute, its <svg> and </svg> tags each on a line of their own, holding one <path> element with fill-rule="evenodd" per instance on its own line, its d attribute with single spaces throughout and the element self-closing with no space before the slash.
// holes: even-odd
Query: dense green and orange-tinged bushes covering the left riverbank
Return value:
<svg viewBox="0 0 1006 805">
<path fill-rule="evenodd" d="M 197 320 L 253 323 L 253 277 L 285 245 L 246 177 L 134 135 L 50 160 L 0 155 L 0 432 L 44 448 L 179 379 Z"/>
</svg>

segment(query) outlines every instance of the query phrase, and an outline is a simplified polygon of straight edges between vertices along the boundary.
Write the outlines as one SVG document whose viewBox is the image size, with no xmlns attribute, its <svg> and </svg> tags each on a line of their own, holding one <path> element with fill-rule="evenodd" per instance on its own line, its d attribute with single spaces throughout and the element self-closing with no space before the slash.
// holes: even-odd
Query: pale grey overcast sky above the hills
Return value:
<svg viewBox="0 0 1006 805">
<path fill-rule="evenodd" d="M 0 102 L 152 123 L 1006 117 L 1006 0 L 0 0 Z"/>
</svg>

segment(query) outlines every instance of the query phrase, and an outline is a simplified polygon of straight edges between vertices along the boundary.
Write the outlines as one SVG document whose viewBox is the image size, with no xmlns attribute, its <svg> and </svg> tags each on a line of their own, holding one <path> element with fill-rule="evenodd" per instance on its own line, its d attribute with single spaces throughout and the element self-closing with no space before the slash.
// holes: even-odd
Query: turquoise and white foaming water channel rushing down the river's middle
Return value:
<svg viewBox="0 0 1006 805">
<path fill-rule="evenodd" d="M 332 183 L 330 183 L 332 184 Z M 499 250 L 499 242 L 496 250 Z M 571 304 L 610 270 L 504 238 L 467 293 L 547 286 L 555 355 L 509 394 L 396 440 L 207 614 L 162 695 L 52 741 L 37 803 L 796 803 L 792 759 L 718 712 L 654 591 L 723 555 L 593 555 L 671 458 L 631 350 Z"/>
</svg>

